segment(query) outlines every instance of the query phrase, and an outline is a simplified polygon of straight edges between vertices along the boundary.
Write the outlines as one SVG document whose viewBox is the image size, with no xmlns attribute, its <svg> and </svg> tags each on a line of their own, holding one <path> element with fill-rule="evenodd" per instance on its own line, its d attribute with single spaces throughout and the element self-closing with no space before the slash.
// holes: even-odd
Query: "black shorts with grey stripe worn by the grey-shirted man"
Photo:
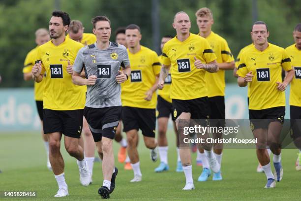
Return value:
<svg viewBox="0 0 301 201">
<path fill-rule="evenodd" d="M 95 142 L 99 142 L 102 136 L 114 139 L 121 116 L 121 106 L 85 107 L 84 116 Z"/>
</svg>

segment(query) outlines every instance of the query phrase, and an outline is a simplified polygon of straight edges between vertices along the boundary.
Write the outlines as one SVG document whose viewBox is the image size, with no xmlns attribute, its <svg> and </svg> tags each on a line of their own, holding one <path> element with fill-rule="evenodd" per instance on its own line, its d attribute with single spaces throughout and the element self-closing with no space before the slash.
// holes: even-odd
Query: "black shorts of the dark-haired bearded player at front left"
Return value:
<svg viewBox="0 0 301 201">
<path fill-rule="evenodd" d="M 80 138 L 83 129 L 83 109 L 43 109 L 44 134 L 59 132 L 68 137 Z"/>
</svg>

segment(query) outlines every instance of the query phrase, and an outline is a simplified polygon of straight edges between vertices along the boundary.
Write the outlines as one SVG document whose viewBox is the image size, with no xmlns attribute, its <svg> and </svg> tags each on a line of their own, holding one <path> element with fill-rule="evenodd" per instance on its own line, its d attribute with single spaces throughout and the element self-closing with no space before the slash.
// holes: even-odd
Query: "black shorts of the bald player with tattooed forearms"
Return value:
<svg viewBox="0 0 301 201">
<path fill-rule="evenodd" d="M 173 99 L 173 116 L 177 119 L 182 112 L 189 112 L 191 119 L 208 119 L 209 116 L 208 97 L 192 100 Z"/>
</svg>

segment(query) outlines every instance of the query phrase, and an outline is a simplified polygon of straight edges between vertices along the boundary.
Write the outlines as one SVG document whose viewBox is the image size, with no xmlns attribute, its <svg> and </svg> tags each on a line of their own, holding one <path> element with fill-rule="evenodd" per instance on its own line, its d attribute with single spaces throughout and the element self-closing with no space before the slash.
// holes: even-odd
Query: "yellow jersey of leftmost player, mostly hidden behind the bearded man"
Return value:
<svg viewBox="0 0 301 201">
<path fill-rule="evenodd" d="M 25 61 L 24 61 L 24 68 L 23 73 L 29 73 L 31 72 L 31 69 L 35 63 L 36 54 L 37 54 L 37 48 L 35 47 L 26 55 Z M 39 83 L 34 82 L 34 100 L 42 101 L 43 100 L 43 89 L 44 89 L 44 82 L 43 80 Z"/>
</svg>

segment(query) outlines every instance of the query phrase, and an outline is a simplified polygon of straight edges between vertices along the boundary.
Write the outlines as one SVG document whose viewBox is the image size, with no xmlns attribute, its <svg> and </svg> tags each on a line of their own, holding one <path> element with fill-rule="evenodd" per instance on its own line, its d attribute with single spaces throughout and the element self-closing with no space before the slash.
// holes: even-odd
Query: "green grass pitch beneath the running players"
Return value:
<svg viewBox="0 0 301 201">
<path fill-rule="evenodd" d="M 142 138 L 142 137 L 140 137 Z M 152 163 L 149 150 L 141 141 L 139 143 L 140 164 L 143 181 L 130 183 L 132 170 L 123 170 L 123 164 L 116 163 L 119 168 L 116 189 L 111 194 L 113 200 L 147 201 L 147 200 L 301 200 L 301 172 L 295 170 L 296 149 L 285 149 L 282 152 L 284 176 L 276 183 L 275 189 L 264 189 L 266 176 L 257 173 L 257 159 L 253 149 L 226 149 L 222 159 L 222 181 L 197 182 L 202 167 L 195 164 L 193 154 L 193 178 L 196 189 L 182 191 L 185 185 L 184 173 L 176 172 L 176 146 L 173 133 L 168 134 L 170 170 L 155 173 L 154 168 L 159 161 Z M 117 155 L 119 145 L 114 144 Z M 65 161 L 65 178 L 69 196 L 53 198 L 58 187 L 54 175 L 46 167 L 46 153 L 42 139 L 38 133 L 0 134 L 0 191 L 36 191 L 37 198 L 0 198 L 0 200 L 100 200 L 98 188 L 102 185 L 101 163 L 95 163 L 93 184 L 83 187 L 79 182 L 76 161 L 68 156 L 61 147 Z M 116 158 L 117 161 L 117 158 Z"/>
</svg>

